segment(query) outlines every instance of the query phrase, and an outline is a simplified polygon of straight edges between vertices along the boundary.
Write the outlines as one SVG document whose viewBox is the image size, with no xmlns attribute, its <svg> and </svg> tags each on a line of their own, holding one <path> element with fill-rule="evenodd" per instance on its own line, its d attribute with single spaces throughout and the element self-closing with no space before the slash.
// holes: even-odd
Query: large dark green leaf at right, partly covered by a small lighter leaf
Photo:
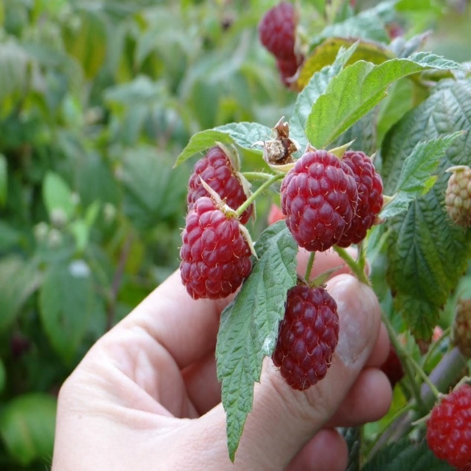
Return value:
<svg viewBox="0 0 471 471">
<path fill-rule="evenodd" d="M 394 192 L 403 178 L 404 156 L 419 142 L 469 130 L 470 122 L 471 80 L 443 80 L 386 136 L 381 150 L 385 193 Z M 469 164 L 470 155 L 468 131 L 456 137 L 440 159 L 438 179 L 430 191 L 388 222 L 387 277 L 395 309 L 418 337 L 430 337 L 471 256 L 471 231 L 453 225 L 444 207 L 449 178 L 445 170 Z"/>
</svg>

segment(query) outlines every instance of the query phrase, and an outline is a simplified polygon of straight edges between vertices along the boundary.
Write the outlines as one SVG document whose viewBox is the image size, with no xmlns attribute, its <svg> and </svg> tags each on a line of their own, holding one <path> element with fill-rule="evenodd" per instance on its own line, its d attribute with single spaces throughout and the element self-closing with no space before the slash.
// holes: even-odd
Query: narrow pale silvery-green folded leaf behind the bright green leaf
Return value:
<svg viewBox="0 0 471 471">
<path fill-rule="evenodd" d="M 357 43 L 354 43 L 347 50 L 341 47 L 333 64 L 327 65 L 321 71 L 314 73 L 309 83 L 297 95 L 293 115 L 290 119 L 290 137 L 299 143 L 301 150 L 307 145 L 304 128 L 306 127 L 307 117 L 311 112 L 312 104 L 325 92 L 329 82 L 344 68 L 357 47 Z"/>
</svg>

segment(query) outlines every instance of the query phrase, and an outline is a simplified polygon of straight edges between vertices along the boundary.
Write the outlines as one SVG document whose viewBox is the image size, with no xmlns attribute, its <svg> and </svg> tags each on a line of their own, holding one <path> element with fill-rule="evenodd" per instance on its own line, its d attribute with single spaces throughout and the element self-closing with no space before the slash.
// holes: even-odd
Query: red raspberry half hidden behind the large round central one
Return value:
<svg viewBox="0 0 471 471">
<path fill-rule="evenodd" d="M 337 244 L 340 247 L 348 247 L 350 244 L 361 242 L 366 231 L 374 224 L 376 215 L 383 207 L 383 183 L 373 162 L 363 152 L 347 151 L 342 161 L 352 169 L 358 190 L 352 225 Z"/>
</svg>

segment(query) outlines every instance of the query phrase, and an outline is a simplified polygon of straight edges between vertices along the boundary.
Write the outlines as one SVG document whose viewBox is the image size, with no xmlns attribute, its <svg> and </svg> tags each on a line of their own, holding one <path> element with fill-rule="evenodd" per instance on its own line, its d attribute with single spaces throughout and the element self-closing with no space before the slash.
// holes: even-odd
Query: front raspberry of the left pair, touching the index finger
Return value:
<svg viewBox="0 0 471 471">
<path fill-rule="evenodd" d="M 226 297 L 249 275 L 251 252 L 237 218 L 226 215 L 211 198 L 196 201 L 181 238 L 181 280 L 194 299 Z"/>
</svg>

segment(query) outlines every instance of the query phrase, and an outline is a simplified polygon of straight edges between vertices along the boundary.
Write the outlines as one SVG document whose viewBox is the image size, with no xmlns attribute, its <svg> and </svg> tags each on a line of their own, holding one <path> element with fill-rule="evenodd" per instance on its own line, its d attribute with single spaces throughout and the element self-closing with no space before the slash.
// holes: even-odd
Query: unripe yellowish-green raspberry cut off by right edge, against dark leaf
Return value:
<svg viewBox="0 0 471 471">
<path fill-rule="evenodd" d="M 465 165 L 451 167 L 445 205 L 450 219 L 458 226 L 471 226 L 471 168 Z"/>
</svg>

